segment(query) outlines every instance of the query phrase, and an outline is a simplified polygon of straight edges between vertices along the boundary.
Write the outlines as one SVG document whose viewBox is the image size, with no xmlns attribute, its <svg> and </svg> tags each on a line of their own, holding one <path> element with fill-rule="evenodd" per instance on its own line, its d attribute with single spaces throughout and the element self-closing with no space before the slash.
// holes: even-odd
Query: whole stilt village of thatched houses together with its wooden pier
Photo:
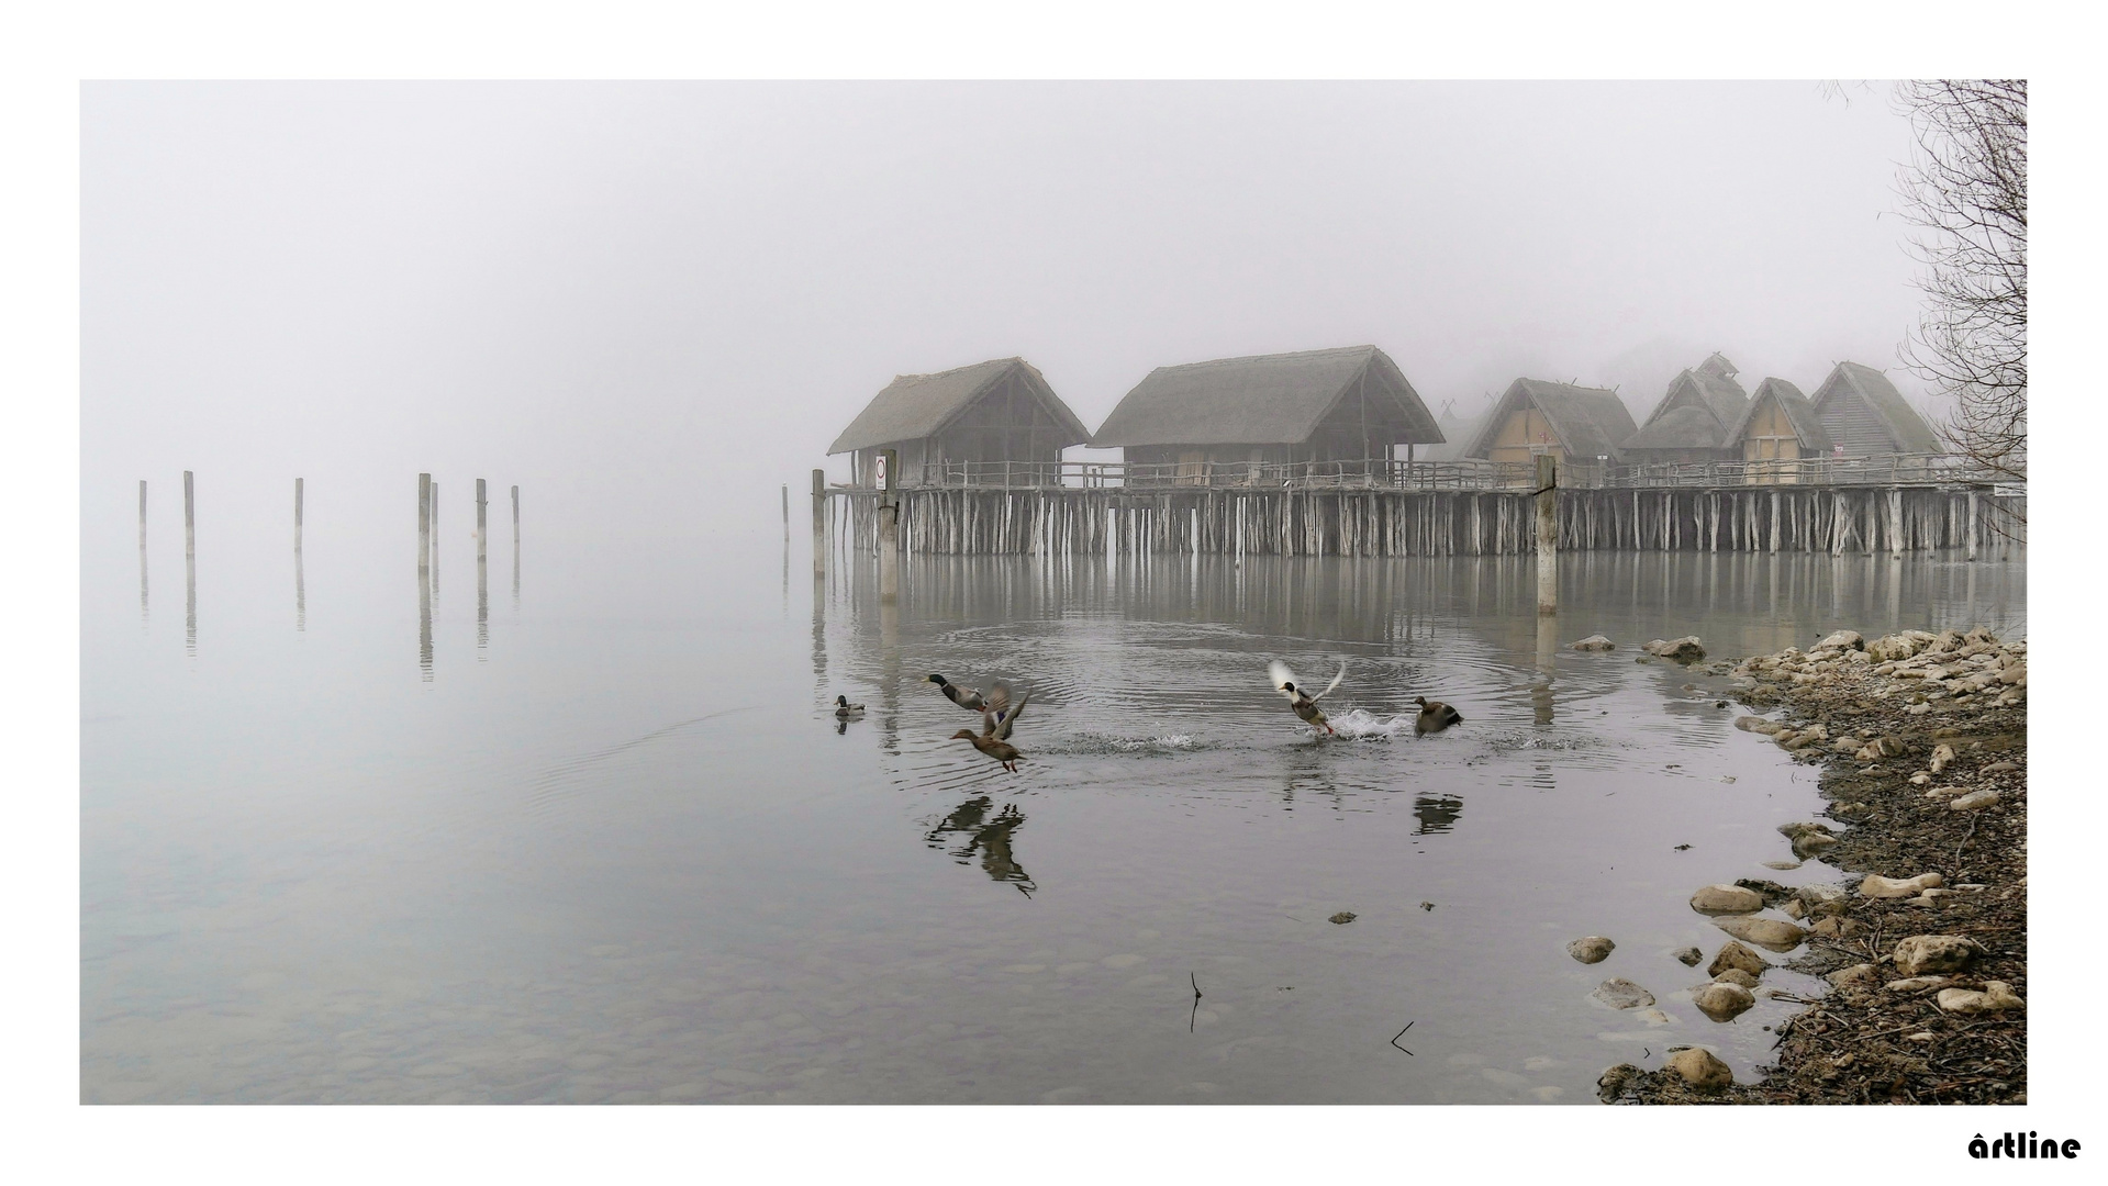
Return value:
<svg viewBox="0 0 2108 1186">
<path fill-rule="evenodd" d="M 1389 354 L 1345 345 L 1157 367 L 1096 432 L 995 358 L 896 375 L 828 453 L 850 478 L 814 470 L 816 529 L 928 552 L 1522 552 L 1547 489 L 1583 550 L 1975 548 L 1988 499 L 2024 510 L 1882 371 L 1752 394 L 1720 352 L 1640 421 L 1619 392 L 1537 377 L 1436 415 Z"/>
</svg>

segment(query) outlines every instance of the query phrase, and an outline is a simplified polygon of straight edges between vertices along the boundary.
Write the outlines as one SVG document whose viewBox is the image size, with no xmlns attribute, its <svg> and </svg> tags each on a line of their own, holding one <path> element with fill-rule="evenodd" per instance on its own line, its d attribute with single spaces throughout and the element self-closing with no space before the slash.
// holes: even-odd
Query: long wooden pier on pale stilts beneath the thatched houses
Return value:
<svg viewBox="0 0 2108 1186">
<path fill-rule="evenodd" d="M 1954 457 L 1560 466 L 1543 499 L 1530 466 L 1501 463 L 1330 461 L 1286 478 L 1240 466 L 1237 482 L 1191 466 L 997 468 L 892 491 L 822 489 L 816 474 L 816 541 L 881 554 L 883 531 L 906 554 L 1503 556 L 1537 550 L 1547 501 L 1560 550 L 1975 558 L 2019 541 L 2026 520 L 2024 497 L 1998 497 L 2009 491 Z"/>
</svg>

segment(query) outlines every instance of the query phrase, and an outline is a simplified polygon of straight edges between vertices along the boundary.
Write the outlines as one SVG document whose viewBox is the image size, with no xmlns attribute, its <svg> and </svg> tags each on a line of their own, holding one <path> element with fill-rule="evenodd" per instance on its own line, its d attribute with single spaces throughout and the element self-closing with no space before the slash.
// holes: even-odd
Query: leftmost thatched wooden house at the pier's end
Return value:
<svg viewBox="0 0 2108 1186">
<path fill-rule="evenodd" d="M 900 457 L 896 487 L 1046 485 L 1054 482 L 1060 451 L 1086 440 L 1090 430 L 1037 367 L 995 358 L 936 375 L 898 375 L 826 451 L 854 453 L 858 487 L 875 485 L 881 449 Z"/>
</svg>

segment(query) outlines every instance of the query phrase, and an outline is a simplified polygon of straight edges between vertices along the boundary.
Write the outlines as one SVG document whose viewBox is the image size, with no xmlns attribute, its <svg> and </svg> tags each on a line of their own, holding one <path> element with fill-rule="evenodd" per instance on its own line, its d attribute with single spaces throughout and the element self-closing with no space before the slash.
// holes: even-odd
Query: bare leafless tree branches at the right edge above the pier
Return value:
<svg viewBox="0 0 2108 1186">
<path fill-rule="evenodd" d="M 1954 396 L 1948 447 L 2028 472 L 2028 82 L 1901 82 L 1916 145 L 1901 169 L 1925 314 L 1904 362 Z"/>
</svg>

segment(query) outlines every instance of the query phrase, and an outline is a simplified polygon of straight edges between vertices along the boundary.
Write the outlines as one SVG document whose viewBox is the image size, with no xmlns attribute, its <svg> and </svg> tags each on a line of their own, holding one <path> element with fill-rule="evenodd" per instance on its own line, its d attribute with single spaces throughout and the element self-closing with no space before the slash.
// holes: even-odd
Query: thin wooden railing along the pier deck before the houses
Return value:
<svg viewBox="0 0 2108 1186">
<path fill-rule="evenodd" d="M 919 480 L 917 480 L 919 478 Z M 2009 482 L 1967 457 L 1897 453 L 1882 457 L 1798 457 L 1781 461 L 1676 461 L 1608 466 L 1568 461 L 1566 489 L 1663 487 L 1935 487 Z M 1395 489 L 1530 491 L 1526 461 L 940 461 L 911 470 L 923 489 Z"/>
</svg>

